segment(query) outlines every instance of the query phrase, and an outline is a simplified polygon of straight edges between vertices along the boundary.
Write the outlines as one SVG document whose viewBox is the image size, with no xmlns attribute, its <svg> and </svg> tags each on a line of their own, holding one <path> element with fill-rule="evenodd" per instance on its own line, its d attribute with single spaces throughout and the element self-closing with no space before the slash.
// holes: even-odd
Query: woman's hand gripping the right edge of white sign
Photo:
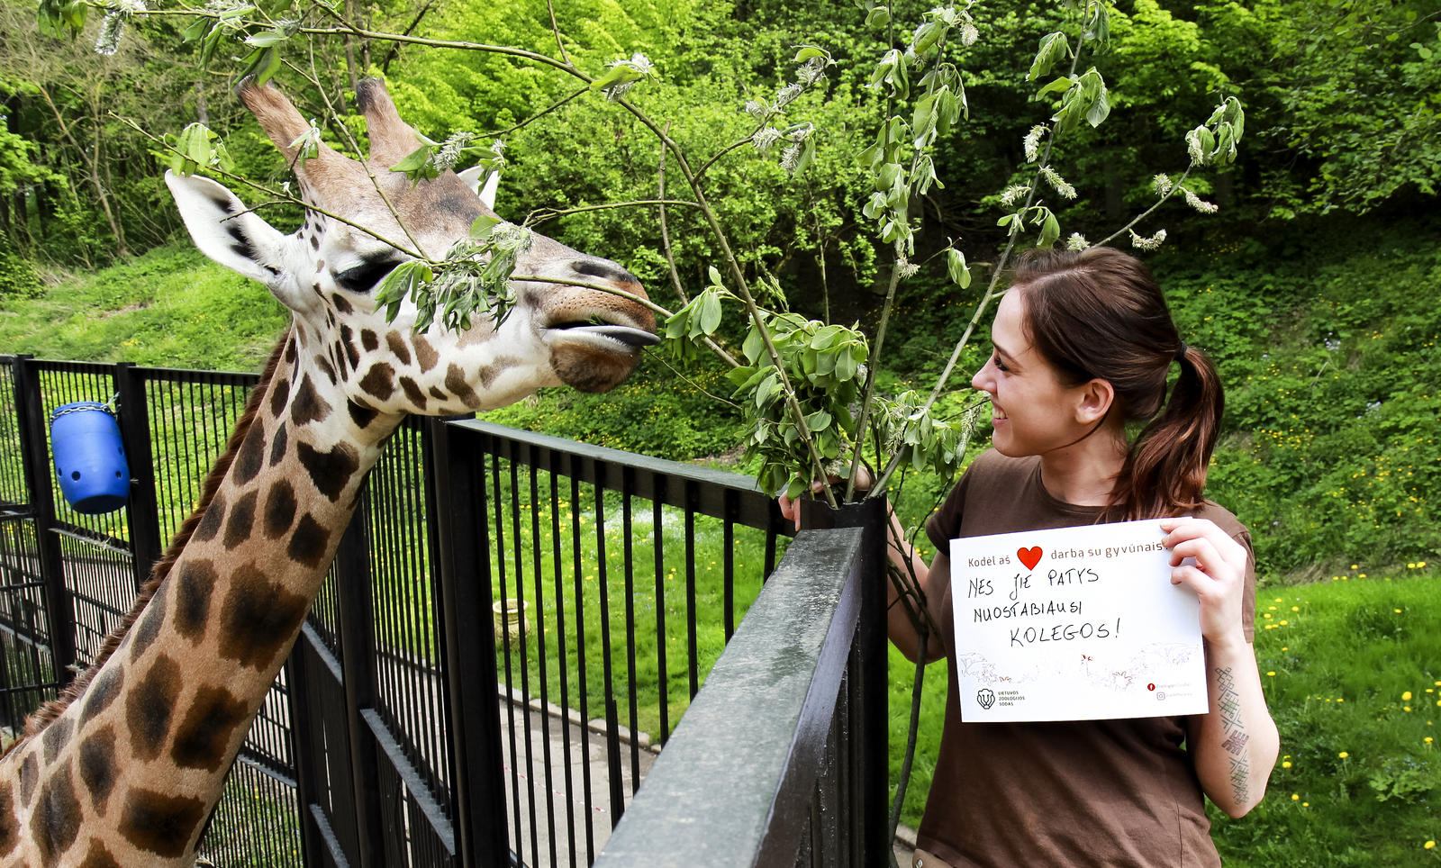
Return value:
<svg viewBox="0 0 1441 868">
<path fill-rule="evenodd" d="M 1200 634 L 1212 646 L 1245 645 L 1245 546 L 1209 519 L 1161 519 L 1161 531 L 1172 552 L 1172 584 L 1185 584 L 1200 600 Z"/>
</svg>

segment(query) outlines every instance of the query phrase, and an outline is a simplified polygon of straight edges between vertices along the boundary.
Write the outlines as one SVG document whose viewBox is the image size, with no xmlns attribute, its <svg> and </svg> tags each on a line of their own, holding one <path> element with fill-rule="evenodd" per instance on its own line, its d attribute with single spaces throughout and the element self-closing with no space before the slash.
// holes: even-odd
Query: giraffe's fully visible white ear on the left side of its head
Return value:
<svg viewBox="0 0 1441 868">
<path fill-rule="evenodd" d="M 166 172 L 166 185 L 200 252 L 245 277 L 275 284 L 285 247 L 280 231 L 209 177 Z"/>
</svg>

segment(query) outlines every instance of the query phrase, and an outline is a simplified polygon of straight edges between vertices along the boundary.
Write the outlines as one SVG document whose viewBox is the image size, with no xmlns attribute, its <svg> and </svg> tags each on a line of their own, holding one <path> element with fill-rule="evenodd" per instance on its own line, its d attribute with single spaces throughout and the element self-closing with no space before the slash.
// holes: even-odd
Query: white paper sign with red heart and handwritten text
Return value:
<svg viewBox="0 0 1441 868">
<path fill-rule="evenodd" d="M 1196 594 L 1159 519 L 951 541 L 961 719 L 1205 714 Z"/>
</svg>

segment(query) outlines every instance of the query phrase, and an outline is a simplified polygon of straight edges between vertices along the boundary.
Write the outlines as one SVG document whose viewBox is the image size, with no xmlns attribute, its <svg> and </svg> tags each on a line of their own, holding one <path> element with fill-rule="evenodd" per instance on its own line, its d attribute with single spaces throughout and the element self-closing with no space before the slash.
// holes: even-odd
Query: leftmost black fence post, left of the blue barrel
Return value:
<svg viewBox="0 0 1441 868">
<path fill-rule="evenodd" d="M 55 685 L 69 683 L 75 665 L 75 608 L 69 606 L 61 559 L 61 539 L 55 533 L 55 489 L 50 486 L 50 450 L 46 438 L 45 404 L 40 376 L 33 356 L 14 358 L 14 409 L 20 427 L 20 451 L 24 456 L 24 482 L 35 508 L 35 536 L 40 548 L 40 577 L 45 581 L 45 616 L 50 621 L 50 659 Z"/>
</svg>

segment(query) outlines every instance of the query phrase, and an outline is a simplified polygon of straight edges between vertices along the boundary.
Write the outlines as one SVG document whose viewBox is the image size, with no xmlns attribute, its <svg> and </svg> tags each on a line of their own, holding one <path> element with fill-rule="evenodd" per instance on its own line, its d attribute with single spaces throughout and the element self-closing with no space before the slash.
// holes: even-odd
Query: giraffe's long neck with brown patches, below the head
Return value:
<svg viewBox="0 0 1441 868">
<path fill-rule="evenodd" d="M 291 352 L 229 471 L 85 691 L 0 761 L 0 864 L 193 861 L 225 776 L 401 417 L 357 425 Z M 9 839 L 9 841 L 7 841 Z M 9 851 L 9 852 L 7 852 Z M 89 862 L 86 862 L 89 864 Z"/>
</svg>

